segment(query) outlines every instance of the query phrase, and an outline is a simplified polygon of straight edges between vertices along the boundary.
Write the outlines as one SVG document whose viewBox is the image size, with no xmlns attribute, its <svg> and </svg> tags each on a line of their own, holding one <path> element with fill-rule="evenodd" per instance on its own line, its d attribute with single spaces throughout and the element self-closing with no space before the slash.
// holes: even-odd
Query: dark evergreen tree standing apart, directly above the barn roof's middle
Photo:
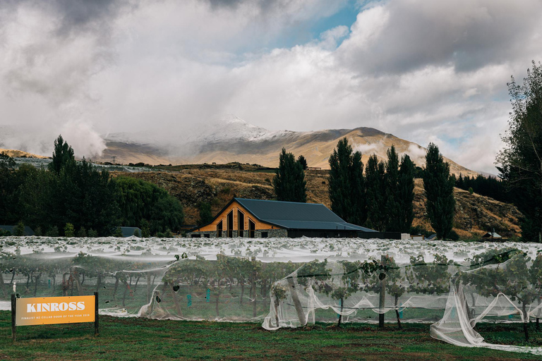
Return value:
<svg viewBox="0 0 542 361">
<path fill-rule="evenodd" d="M 273 188 L 277 200 L 307 202 L 307 182 L 303 166 L 296 161 L 294 154 L 287 153 L 284 148 L 279 155 L 279 169 L 273 177 Z"/>
</svg>

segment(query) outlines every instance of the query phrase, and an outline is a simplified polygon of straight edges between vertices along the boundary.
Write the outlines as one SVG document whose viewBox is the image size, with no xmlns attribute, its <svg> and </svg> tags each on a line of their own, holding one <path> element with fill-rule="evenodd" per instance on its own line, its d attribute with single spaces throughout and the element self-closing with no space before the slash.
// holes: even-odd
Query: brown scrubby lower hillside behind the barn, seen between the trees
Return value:
<svg viewBox="0 0 542 361">
<path fill-rule="evenodd" d="M 234 169 L 186 169 L 178 173 L 126 173 L 126 176 L 145 179 L 168 190 L 184 205 L 186 224 L 198 220 L 198 203 L 210 202 L 212 214 L 217 214 L 232 197 L 270 200 L 275 197 L 271 180 L 273 173 L 258 173 Z M 116 174 L 118 176 L 118 174 Z M 327 171 L 307 171 L 308 196 L 311 203 L 323 203 L 330 207 L 327 195 Z M 414 226 L 430 230 L 425 212 L 425 197 L 421 179 L 416 179 L 414 189 Z M 495 228 L 503 236 L 519 235 L 521 214 L 512 204 L 495 201 L 488 197 L 454 189 L 457 212 L 454 231 L 462 238 L 476 238 Z"/>
</svg>

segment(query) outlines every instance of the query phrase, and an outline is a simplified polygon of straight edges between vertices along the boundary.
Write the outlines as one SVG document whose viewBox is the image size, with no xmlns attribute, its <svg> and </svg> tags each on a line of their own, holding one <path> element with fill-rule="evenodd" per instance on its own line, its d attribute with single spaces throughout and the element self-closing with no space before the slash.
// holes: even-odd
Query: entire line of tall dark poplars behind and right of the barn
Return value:
<svg viewBox="0 0 542 361">
<path fill-rule="evenodd" d="M 387 149 L 386 161 L 376 154 L 369 157 L 367 166 L 361 152 L 354 152 L 346 137 L 339 140 L 330 159 L 327 190 L 331 210 L 344 221 L 381 232 L 409 233 L 414 220 L 414 178 L 420 175 L 426 190 L 426 211 L 438 238 L 454 238 L 452 231 L 455 200 L 454 176 L 438 147 L 431 143 L 426 154 L 426 168 L 421 170 L 407 154 L 399 159 L 392 145 Z M 306 165 L 294 154 L 282 149 L 279 168 L 273 178 L 277 200 L 306 202 Z"/>
</svg>

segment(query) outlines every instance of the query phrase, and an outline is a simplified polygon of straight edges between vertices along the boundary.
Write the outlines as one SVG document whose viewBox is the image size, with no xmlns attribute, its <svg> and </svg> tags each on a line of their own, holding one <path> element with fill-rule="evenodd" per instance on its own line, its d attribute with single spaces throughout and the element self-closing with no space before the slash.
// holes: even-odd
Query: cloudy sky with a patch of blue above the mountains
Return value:
<svg viewBox="0 0 542 361">
<path fill-rule="evenodd" d="M 2 0 L 4 146 L 79 156 L 224 114 L 372 127 L 497 173 L 507 82 L 542 61 L 538 0 Z"/>
</svg>

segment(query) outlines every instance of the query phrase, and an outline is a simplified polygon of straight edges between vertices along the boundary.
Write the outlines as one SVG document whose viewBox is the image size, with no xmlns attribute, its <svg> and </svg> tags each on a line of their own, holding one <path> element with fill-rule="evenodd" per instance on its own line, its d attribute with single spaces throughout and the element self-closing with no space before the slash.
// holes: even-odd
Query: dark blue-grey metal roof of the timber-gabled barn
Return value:
<svg viewBox="0 0 542 361">
<path fill-rule="evenodd" d="M 234 198 L 260 221 L 289 229 L 349 230 L 376 232 L 349 224 L 331 212 L 324 204 L 280 202 L 276 200 L 247 200 Z"/>
</svg>

